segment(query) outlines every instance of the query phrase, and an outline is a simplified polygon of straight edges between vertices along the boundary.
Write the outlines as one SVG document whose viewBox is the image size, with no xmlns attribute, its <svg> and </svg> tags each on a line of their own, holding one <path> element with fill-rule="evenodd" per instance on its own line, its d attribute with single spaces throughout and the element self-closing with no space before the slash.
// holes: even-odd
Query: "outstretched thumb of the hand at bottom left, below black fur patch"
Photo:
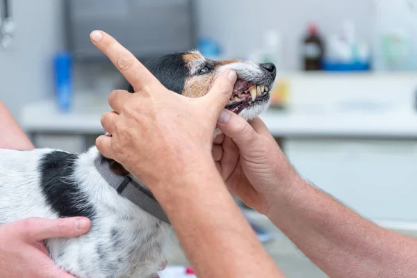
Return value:
<svg viewBox="0 0 417 278">
<path fill-rule="evenodd" d="M 88 218 L 29 218 L 23 220 L 22 225 L 28 240 L 41 241 L 47 238 L 81 236 L 90 230 L 91 222 Z"/>
</svg>

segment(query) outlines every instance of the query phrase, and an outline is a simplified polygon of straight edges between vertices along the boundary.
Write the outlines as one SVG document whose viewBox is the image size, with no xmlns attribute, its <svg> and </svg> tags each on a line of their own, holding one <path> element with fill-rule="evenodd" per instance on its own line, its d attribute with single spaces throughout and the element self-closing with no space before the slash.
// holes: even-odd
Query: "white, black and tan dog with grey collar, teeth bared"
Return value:
<svg viewBox="0 0 417 278">
<path fill-rule="evenodd" d="M 226 108 L 245 120 L 268 108 L 276 76 L 272 63 L 215 61 L 198 51 L 163 56 L 146 66 L 167 89 L 186 97 L 206 95 L 220 72 L 235 70 L 238 80 Z M 140 198 L 132 201 L 136 193 L 124 194 L 126 186 Z M 147 278 L 160 270 L 172 229 L 163 212 L 149 213 L 155 209 L 147 207 L 157 204 L 146 190 L 95 147 L 83 154 L 0 150 L 0 223 L 32 217 L 90 218 L 87 234 L 44 242 L 56 265 L 79 278 Z"/>
</svg>

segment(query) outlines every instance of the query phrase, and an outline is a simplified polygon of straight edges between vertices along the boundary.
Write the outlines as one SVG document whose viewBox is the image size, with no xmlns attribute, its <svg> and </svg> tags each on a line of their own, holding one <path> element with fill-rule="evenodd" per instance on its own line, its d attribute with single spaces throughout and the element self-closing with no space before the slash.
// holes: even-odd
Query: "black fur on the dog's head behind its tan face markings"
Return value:
<svg viewBox="0 0 417 278">
<path fill-rule="evenodd" d="M 145 65 L 149 72 L 152 72 L 156 79 L 162 83 L 168 90 L 182 94 L 186 77 L 190 71 L 183 61 L 185 53 L 170 54 L 163 56 L 157 60 L 153 60 Z M 133 87 L 129 85 L 129 92 L 135 92 Z"/>
</svg>

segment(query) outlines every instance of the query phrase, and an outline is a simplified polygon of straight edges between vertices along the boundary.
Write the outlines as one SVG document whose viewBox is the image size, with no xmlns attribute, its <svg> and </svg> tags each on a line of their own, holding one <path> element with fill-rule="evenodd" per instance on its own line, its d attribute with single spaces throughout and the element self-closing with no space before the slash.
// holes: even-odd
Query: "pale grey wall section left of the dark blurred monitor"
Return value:
<svg viewBox="0 0 417 278">
<path fill-rule="evenodd" d="M 64 45 L 60 0 L 10 1 L 17 29 L 0 47 L 0 99 L 18 117 L 22 104 L 53 94 L 51 59 Z"/>
</svg>

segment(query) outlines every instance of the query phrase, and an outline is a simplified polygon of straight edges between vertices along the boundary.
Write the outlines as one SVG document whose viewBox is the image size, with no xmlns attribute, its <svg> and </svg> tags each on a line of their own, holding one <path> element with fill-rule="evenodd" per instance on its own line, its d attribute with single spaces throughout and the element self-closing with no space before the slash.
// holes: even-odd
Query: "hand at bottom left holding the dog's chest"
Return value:
<svg viewBox="0 0 417 278">
<path fill-rule="evenodd" d="M 75 278 L 54 265 L 44 240 L 80 236 L 89 229 L 88 218 L 29 218 L 4 224 L 0 227 L 0 277 Z"/>
</svg>

